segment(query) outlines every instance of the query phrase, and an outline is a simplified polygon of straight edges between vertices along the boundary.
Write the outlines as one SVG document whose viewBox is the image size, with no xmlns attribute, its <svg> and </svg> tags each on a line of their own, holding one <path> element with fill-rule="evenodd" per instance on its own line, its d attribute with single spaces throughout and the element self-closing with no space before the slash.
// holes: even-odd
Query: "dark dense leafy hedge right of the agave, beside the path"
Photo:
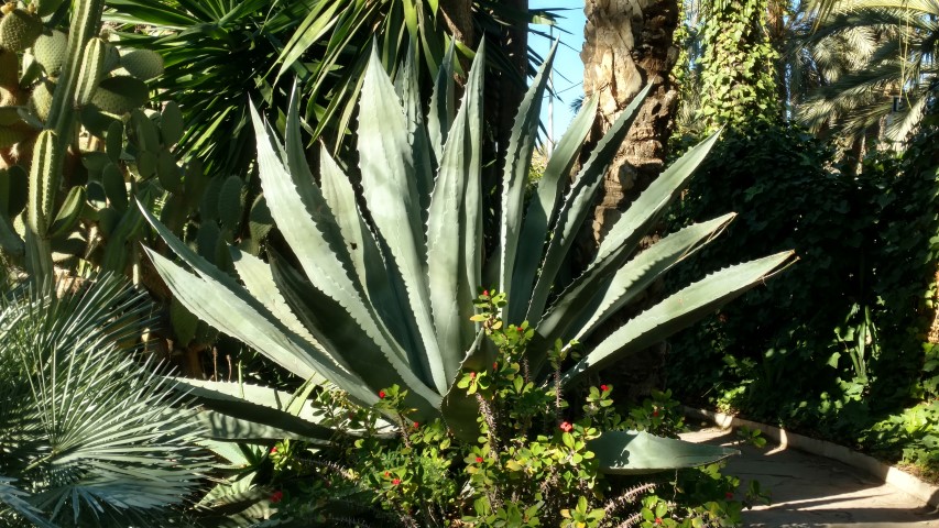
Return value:
<svg viewBox="0 0 939 528">
<path fill-rule="evenodd" d="M 852 446 L 886 441 L 896 453 L 910 441 L 935 444 L 933 141 L 928 132 L 903 155 L 875 153 L 849 176 L 796 128 L 728 131 L 676 219 L 734 207 L 743 211 L 728 228 L 734 243 L 703 250 L 684 272 L 789 246 L 799 262 L 673 342 L 670 383 L 681 397 Z M 889 426 L 920 400 L 918 425 Z"/>
</svg>

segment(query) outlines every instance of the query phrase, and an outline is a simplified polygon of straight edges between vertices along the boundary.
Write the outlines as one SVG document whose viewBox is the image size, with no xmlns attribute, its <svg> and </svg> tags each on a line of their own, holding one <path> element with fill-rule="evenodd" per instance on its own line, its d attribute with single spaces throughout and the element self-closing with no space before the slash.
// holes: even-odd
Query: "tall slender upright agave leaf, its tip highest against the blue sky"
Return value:
<svg viewBox="0 0 939 528">
<path fill-rule="evenodd" d="M 512 135 L 509 139 L 509 147 L 505 151 L 499 231 L 499 287 L 502 292 L 509 294 L 509 305 L 524 305 L 528 300 L 527 297 L 516 298 L 511 288 L 515 271 L 515 256 L 518 251 L 518 235 L 523 226 L 522 213 L 524 212 L 525 186 L 528 183 L 532 153 L 535 150 L 535 142 L 538 136 L 543 94 L 548 84 L 555 52 L 557 52 L 557 42 L 552 45 L 547 58 L 545 58 L 538 74 L 522 99 L 522 105 L 518 107 L 518 112 L 515 116 L 515 123 L 512 127 Z M 522 310 L 514 311 L 521 312 Z M 506 322 L 518 323 L 521 321 L 509 319 Z"/>
</svg>

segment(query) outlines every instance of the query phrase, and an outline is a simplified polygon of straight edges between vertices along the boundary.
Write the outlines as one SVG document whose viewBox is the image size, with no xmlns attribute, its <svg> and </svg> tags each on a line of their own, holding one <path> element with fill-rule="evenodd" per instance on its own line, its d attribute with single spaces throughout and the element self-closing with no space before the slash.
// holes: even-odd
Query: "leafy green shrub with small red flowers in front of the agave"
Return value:
<svg viewBox="0 0 939 528">
<path fill-rule="evenodd" d="M 407 392 L 385 387 L 372 408 L 349 408 L 350 430 L 368 433 L 348 437 L 340 453 L 319 452 L 299 462 L 301 451 L 290 449 L 297 463 L 275 474 L 280 487 L 270 501 L 277 515 L 354 526 L 739 524 L 744 506 L 734 499 L 739 481 L 721 475 L 718 464 L 657 479 L 604 477 L 588 442 L 612 429 L 675 435 L 684 425 L 677 403 L 670 393 L 656 393 L 623 417 L 612 399 L 615 387 L 601 383 L 575 395 L 580 405 L 572 410 L 559 374 L 541 386 L 528 378 L 524 352 L 535 331 L 527 323 L 504 324 L 498 316 L 504 297 L 487 290 L 478 298 L 476 318 L 483 322 L 493 356 L 481 363 L 484 369 L 467 370 L 457 381 L 462 403 L 477 407 L 474 440 L 452 436 L 439 420 L 414 421 Z M 549 361 L 556 373 L 576 350 L 576 343 L 554 344 Z M 335 402 L 348 405 L 341 396 Z M 381 428 L 382 419 L 395 426 L 393 436 Z M 283 451 L 272 457 L 287 468 Z M 294 501 L 281 491 L 288 486 L 298 491 Z"/>
</svg>

